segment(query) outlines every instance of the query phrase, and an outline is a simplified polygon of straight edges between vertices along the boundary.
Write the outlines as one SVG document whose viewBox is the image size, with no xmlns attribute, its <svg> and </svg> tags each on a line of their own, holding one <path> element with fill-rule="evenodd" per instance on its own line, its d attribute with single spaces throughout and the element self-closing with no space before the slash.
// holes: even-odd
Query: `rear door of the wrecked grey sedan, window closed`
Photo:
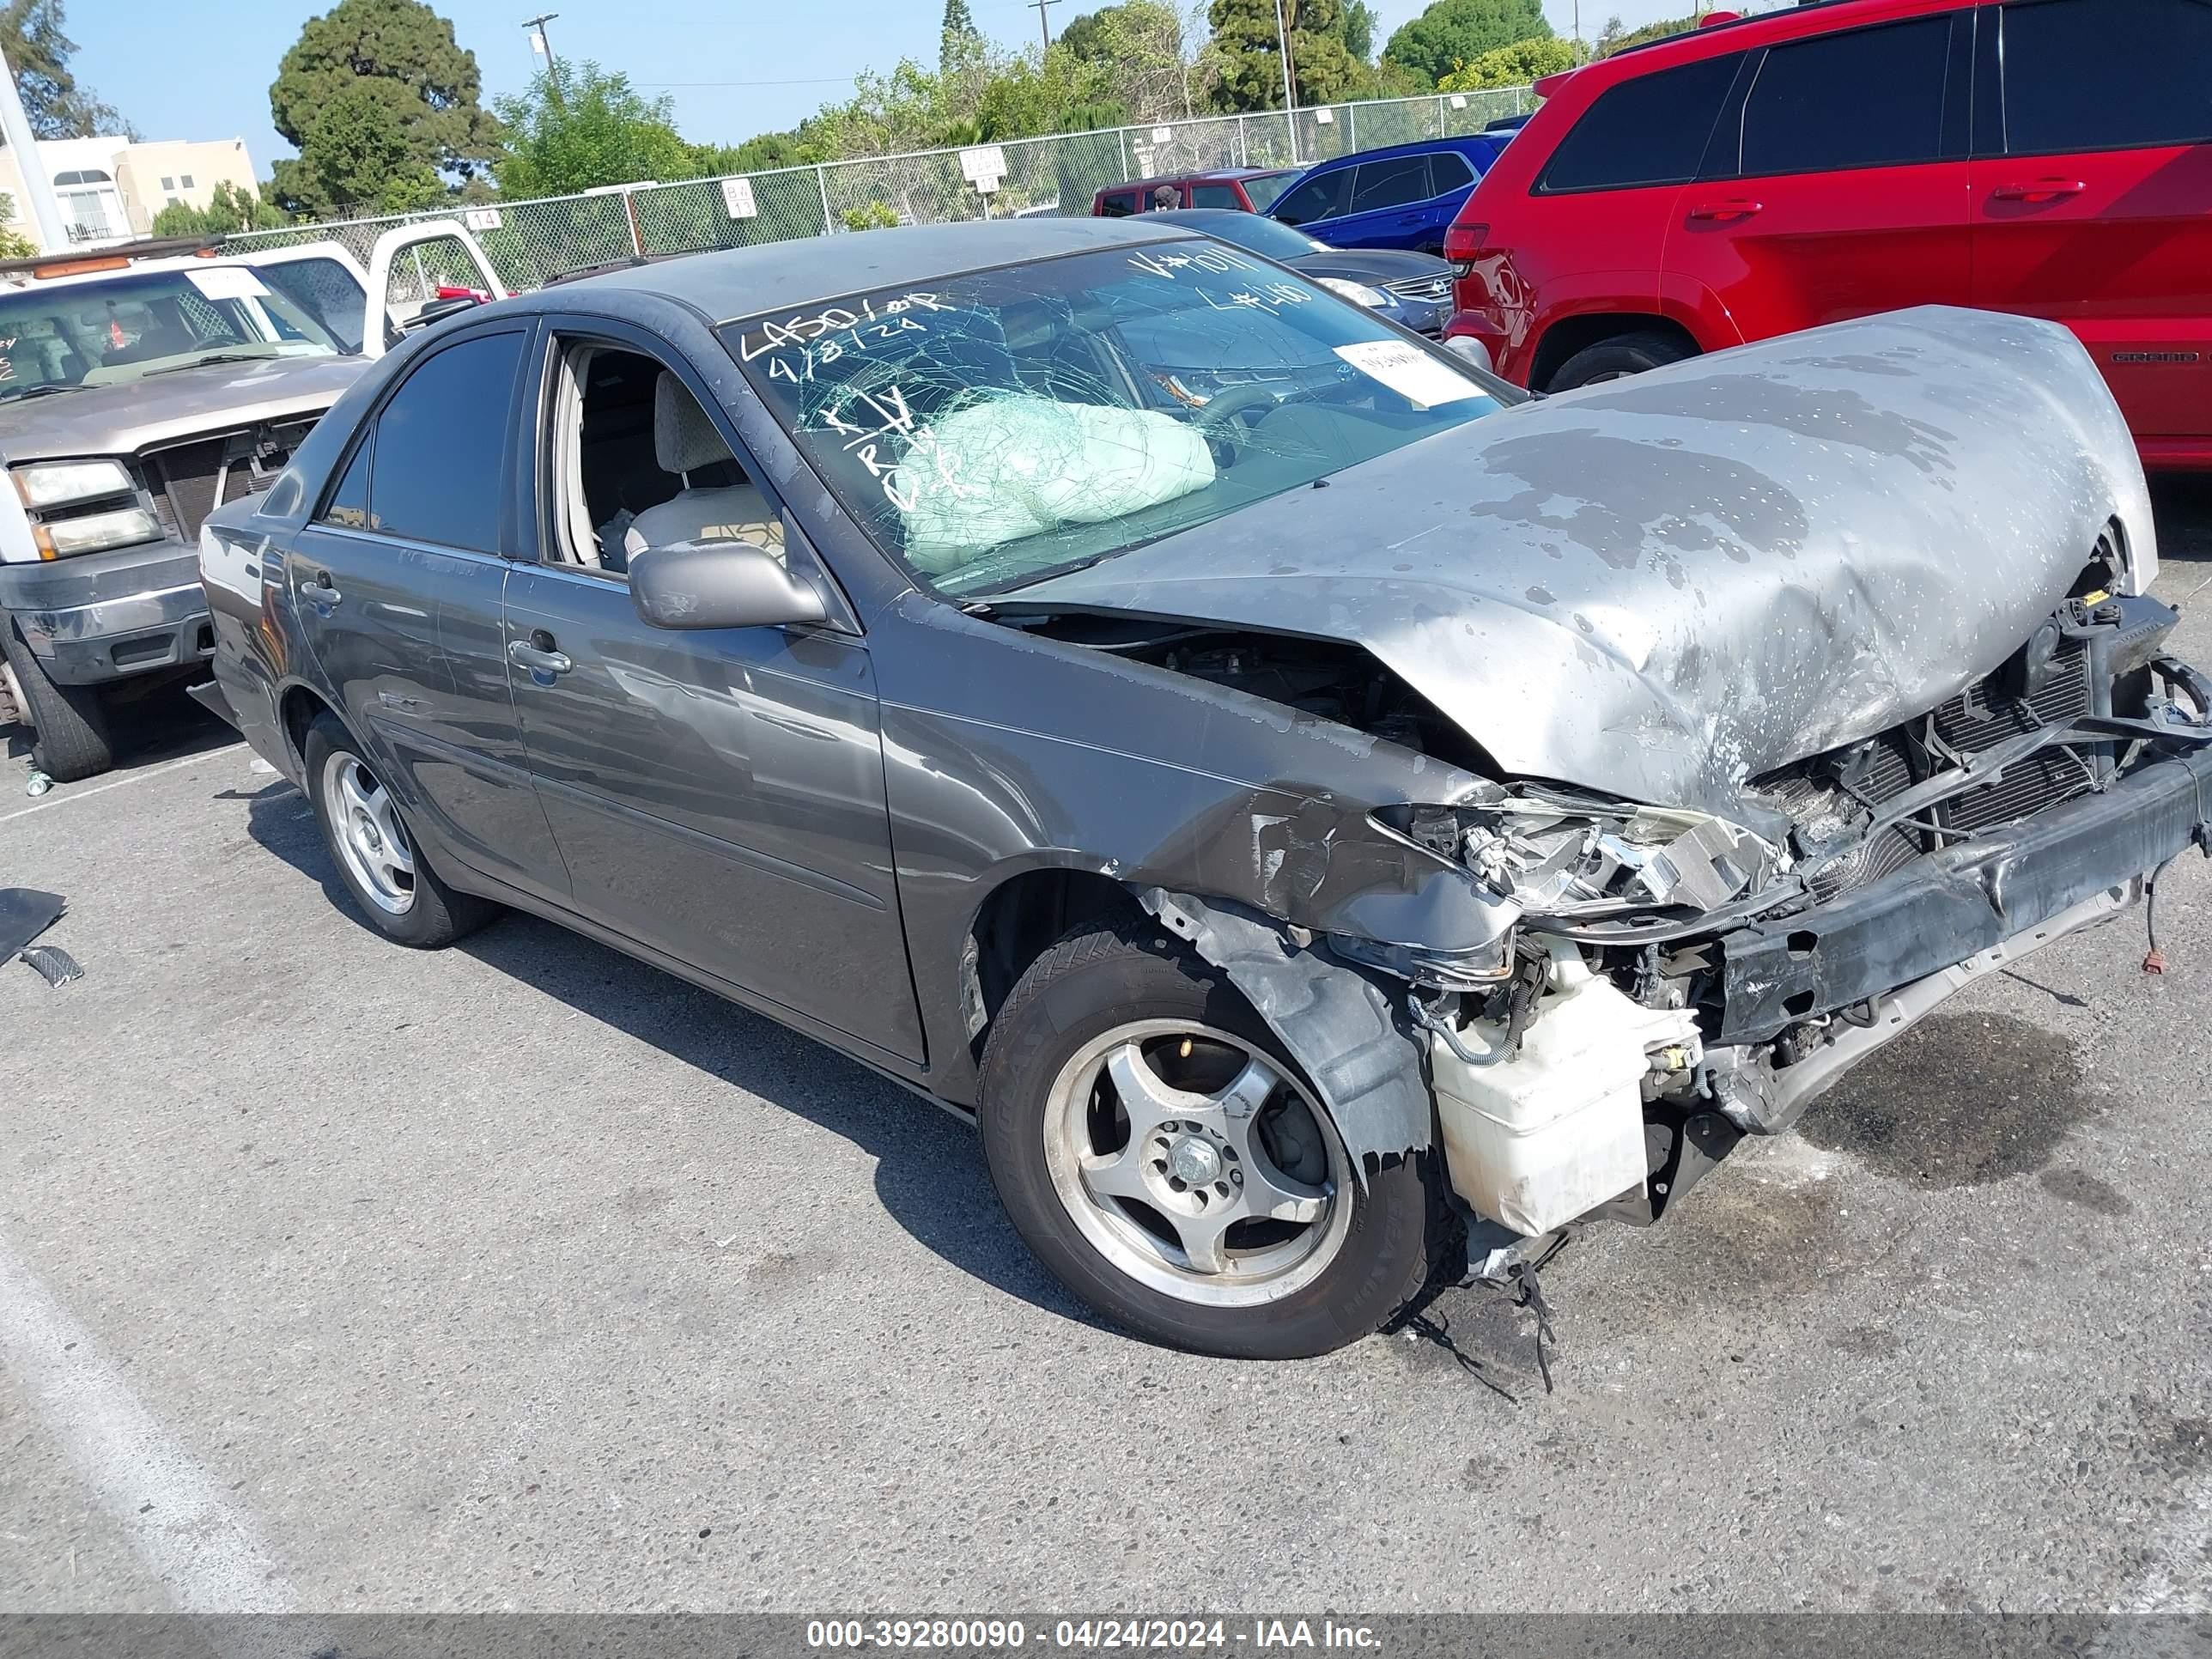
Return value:
<svg viewBox="0 0 2212 1659">
<path fill-rule="evenodd" d="M 283 582 L 338 712 L 418 830 L 484 874 L 566 898 L 500 637 L 531 338 L 529 321 L 462 330 L 409 365 L 361 422 Z"/>
</svg>

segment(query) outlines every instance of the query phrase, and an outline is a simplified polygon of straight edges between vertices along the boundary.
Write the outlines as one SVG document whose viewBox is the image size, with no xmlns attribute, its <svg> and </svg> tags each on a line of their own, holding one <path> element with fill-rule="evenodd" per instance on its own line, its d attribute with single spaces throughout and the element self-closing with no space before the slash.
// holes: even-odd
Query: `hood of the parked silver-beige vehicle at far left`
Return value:
<svg viewBox="0 0 2212 1659">
<path fill-rule="evenodd" d="M 210 363 L 55 398 L 0 405 L 0 460 L 128 456 L 257 420 L 321 414 L 369 367 L 365 356 Z"/>
</svg>

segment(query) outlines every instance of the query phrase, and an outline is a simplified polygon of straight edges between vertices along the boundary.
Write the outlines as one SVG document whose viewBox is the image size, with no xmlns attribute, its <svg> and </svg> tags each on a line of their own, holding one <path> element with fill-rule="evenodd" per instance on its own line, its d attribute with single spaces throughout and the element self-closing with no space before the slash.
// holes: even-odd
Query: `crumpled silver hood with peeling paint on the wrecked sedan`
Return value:
<svg viewBox="0 0 2212 1659">
<path fill-rule="evenodd" d="M 1365 646 L 1513 776 L 1728 814 L 1995 670 L 2119 520 L 2073 334 L 1922 307 L 1506 409 L 1031 588 Z"/>
</svg>

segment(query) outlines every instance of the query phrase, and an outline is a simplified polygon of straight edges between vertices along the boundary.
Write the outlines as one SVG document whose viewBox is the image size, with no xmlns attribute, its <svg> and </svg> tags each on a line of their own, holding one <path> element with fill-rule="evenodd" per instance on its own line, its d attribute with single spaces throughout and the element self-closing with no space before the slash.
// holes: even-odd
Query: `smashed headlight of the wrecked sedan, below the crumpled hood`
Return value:
<svg viewBox="0 0 2212 1659">
<path fill-rule="evenodd" d="M 1599 920 L 1644 909 L 1719 909 L 1759 891 L 1790 856 L 1750 830 L 1683 807 L 1500 794 L 1376 814 L 1455 858 L 1528 916 Z"/>
</svg>

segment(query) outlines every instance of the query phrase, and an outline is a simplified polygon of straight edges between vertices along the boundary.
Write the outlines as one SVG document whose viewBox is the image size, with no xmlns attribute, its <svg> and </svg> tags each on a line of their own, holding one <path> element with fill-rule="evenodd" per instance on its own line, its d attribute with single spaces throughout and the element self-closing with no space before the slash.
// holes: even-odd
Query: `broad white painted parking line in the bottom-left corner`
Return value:
<svg viewBox="0 0 2212 1659">
<path fill-rule="evenodd" d="M 252 1522 L 100 1356 L 91 1332 L 0 1239 L 0 1358 L 24 1380 L 100 1506 L 184 1613 L 288 1613 L 296 1597 Z"/>
</svg>

